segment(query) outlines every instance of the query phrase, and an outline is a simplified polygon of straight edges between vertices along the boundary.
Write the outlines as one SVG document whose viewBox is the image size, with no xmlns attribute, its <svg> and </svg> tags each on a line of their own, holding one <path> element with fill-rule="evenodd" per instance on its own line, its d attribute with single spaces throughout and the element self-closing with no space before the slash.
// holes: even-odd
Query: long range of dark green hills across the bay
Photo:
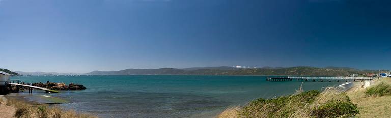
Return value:
<svg viewBox="0 0 391 118">
<path fill-rule="evenodd" d="M 388 72 L 388 71 L 387 71 Z M 377 70 L 359 70 L 348 67 L 264 67 L 264 68 L 234 68 L 234 67 L 194 67 L 185 69 L 125 69 L 120 71 L 93 71 L 88 75 L 301 75 L 301 76 L 348 76 L 351 74 L 366 75 L 378 73 Z"/>
</svg>

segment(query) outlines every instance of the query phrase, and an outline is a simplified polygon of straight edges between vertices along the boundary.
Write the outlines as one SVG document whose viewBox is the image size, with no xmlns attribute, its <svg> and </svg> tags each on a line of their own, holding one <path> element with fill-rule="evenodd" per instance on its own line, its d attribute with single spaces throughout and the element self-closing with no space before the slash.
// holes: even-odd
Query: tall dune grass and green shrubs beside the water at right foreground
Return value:
<svg viewBox="0 0 391 118">
<path fill-rule="evenodd" d="M 257 99 L 226 109 L 218 117 L 355 117 L 359 114 L 347 94 L 338 88 L 302 91 L 290 96 Z"/>
</svg>

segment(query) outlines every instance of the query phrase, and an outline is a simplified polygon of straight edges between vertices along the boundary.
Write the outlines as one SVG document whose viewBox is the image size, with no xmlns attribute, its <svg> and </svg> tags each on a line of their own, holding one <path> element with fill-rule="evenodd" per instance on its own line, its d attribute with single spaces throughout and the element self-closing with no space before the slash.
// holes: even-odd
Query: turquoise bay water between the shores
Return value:
<svg viewBox="0 0 391 118">
<path fill-rule="evenodd" d="M 31 82 L 70 82 L 87 90 L 47 94 L 34 90 L 19 96 L 38 102 L 37 96 L 53 96 L 69 103 L 61 107 L 99 117 L 213 117 L 228 106 L 256 98 L 292 94 L 302 82 L 268 82 L 268 76 L 23 76 Z M 338 82 L 303 82 L 304 90 L 337 86 Z"/>
</svg>

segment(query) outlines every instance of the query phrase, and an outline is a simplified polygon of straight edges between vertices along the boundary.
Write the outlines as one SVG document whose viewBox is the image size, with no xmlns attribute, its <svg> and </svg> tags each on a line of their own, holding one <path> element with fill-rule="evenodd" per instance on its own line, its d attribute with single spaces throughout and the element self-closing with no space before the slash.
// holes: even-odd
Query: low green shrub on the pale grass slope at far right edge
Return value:
<svg viewBox="0 0 391 118">
<path fill-rule="evenodd" d="M 391 86 L 381 82 L 379 85 L 371 87 L 366 92 L 367 96 L 391 95 Z"/>
</svg>

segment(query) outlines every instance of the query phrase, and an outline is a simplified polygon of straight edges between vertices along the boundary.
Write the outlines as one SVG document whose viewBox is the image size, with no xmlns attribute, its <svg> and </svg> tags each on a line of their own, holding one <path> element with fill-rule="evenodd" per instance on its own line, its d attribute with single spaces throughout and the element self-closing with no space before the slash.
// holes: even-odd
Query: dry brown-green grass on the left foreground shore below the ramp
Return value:
<svg viewBox="0 0 391 118">
<path fill-rule="evenodd" d="M 22 101 L 9 99 L 7 104 L 15 107 L 15 115 L 17 118 L 93 118 L 96 116 L 90 114 L 80 114 L 73 110 L 63 110 L 59 107 L 48 107 L 46 105 L 29 105 Z"/>
</svg>

